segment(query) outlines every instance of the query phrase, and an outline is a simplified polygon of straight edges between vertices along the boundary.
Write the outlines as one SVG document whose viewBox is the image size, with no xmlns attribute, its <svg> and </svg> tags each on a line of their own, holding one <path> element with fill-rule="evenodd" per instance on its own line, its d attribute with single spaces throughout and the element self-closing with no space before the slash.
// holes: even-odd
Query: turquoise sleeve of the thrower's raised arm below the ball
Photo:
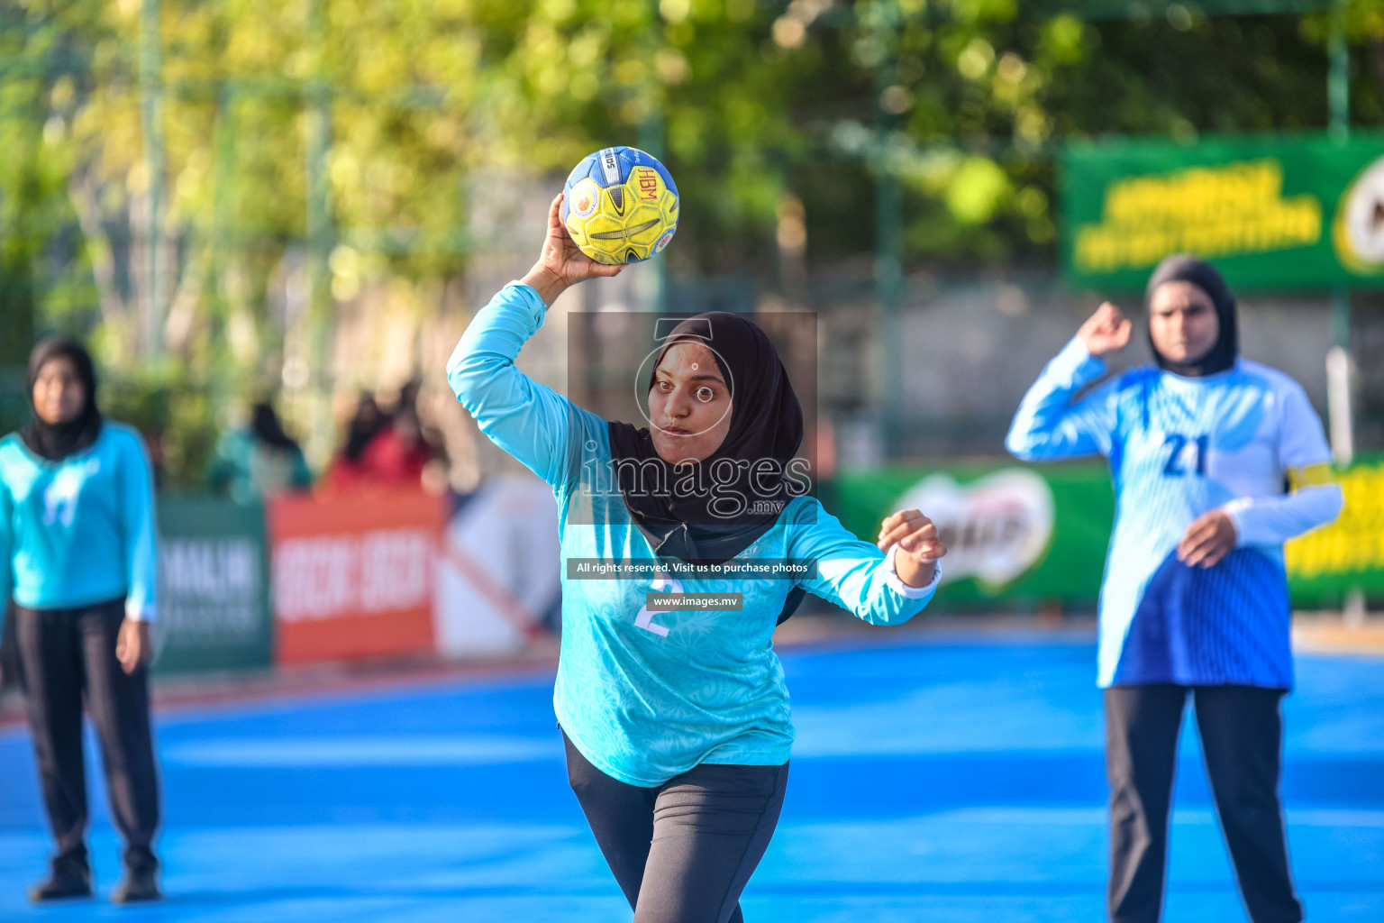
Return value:
<svg viewBox="0 0 1384 923">
<path fill-rule="evenodd" d="M 515 367 L 519 349 L 543 327 L 547 307 L 533 288 L 511 282 L 480 309 L 447 360 L 447 382 L 490 440 L 551 487 L 580 464 L 579 419 L 594 414 Z"/>
</svg>

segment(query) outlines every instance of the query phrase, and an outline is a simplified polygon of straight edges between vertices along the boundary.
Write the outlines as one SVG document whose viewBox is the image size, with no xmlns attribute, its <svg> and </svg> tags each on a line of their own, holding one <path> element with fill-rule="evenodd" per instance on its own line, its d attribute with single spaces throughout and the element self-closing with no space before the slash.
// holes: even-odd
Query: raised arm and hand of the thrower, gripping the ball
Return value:
<svg viewBox="0 0 1384 923">
<path fill-rule="evenodd" d="M 548 235 L 538 262 L 520 282 L 500 289 L 476 313 L 447 361 L 447 381 L 457 400 L 495 446 L 556 487 L 572 475 L 573 419 L 587 414 L 515 367 L 519 349 L 543 327 L 548 304 L 567 286 L 595 275 L 614 275 L 621 266 L 587 257 L 561 219 L 562 195 L 548 209 Z"/>
</svg>

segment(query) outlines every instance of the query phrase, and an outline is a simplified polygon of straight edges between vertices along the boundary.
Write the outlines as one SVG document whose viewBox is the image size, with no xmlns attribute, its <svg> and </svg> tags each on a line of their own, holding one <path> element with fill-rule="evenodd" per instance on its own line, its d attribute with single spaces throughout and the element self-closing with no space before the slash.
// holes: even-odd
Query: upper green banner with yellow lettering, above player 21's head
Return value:
<svg viewBox="0 0 1384 923">
<path fill-rule="evenodd" d="M 1232 286 L 1384 286 L 1384 134 L 1068 143 L 1063 268 L 1143 288 L 1171 253 Z"/>
</svg>

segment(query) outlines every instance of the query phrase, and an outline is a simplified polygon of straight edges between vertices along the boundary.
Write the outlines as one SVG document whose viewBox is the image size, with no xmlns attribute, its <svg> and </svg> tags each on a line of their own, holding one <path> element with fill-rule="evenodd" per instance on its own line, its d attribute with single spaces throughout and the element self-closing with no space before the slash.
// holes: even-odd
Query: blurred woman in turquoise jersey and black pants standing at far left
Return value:
<svg viewBox="0 0 1384 923">
<path fill-rule="evenodd" d="M 30 422 L 0 440 L 0 599 L 14 602 L 21 684 L 57 840 L 29 897 L 91 894 L 82 700 L 101 739 L 126 841 L 118 904 L 159 897 L 159 821 L 145 661 L 155 598 L 154 482 L 144 444 L 101 418 L 91 357 L 43 340 L 29 357 Z"/>
</svg>

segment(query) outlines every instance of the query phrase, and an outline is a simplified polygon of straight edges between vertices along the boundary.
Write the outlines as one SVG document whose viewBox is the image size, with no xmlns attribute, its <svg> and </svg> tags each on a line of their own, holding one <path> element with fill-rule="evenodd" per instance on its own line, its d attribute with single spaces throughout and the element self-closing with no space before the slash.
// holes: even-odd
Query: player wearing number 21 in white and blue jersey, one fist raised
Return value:
<svg viewBox="0 0 1384 923">
<path fill-rule="evenodd" d="M 1235 299 L 1211 264 L 1164 260 L 1146 304 L 1154 365 L 1095 385 L 1100 357 L 1132 329 L 1102 304 L 1028 389 L 1006 440 L 1027 461 L 1110 459 L 1099 628 L 1110 919 L 1160 916 L 1190 691 L 1250 916 L 1297 923 L 1279 801 L 1279 706 L 1293 688 L 1283 542 L 1336 519 L 1341 490 L 1302 387 L 1239 356 Z"/>
</svg>

